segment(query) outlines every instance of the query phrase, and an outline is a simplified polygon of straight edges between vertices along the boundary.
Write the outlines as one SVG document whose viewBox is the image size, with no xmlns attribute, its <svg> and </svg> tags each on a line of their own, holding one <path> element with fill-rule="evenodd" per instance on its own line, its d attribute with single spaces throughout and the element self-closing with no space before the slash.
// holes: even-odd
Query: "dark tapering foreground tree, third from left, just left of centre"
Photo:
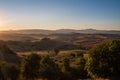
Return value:
<svg viewBox="0 0 120 80">
<path fill-rule="evenodd" d="M 57 80 L 60 75 L 58 66 L 48 55 L 44 56 L 40 61 L 39 75 L 41 78 L 48 80 Z"/>
</svg>

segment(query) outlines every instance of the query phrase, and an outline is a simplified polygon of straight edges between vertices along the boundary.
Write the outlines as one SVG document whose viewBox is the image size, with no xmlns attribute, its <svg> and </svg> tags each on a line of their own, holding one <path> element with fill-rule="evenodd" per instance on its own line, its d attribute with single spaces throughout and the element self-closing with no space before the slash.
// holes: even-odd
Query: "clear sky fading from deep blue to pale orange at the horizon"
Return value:
<svg viewBox="0 0 120 80">
<path fill-rule="evenodd" d="M 120 30 L 120 0 L 0 0 L 0 30 Z"/>
</svg>

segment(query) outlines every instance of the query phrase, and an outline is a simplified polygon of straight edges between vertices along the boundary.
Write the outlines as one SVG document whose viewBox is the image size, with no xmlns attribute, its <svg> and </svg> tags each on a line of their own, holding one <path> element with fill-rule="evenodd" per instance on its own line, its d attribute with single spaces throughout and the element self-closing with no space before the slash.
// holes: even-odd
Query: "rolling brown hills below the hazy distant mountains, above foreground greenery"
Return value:
<svg viewBox="0 0 120 80">
<path fill-rule="evenodd" d="M 6 34 L 7 35 L 7 34 Z M 22 51 L 40 51 L 51 50 L 54 48 L 60 50 L 71 49 L 84 49 L 88 50 L 92 46 L 101 42 L 118 39 L 119 34 L 81 34 L 81 33 L 69 33 L 69 34 L 10 34 L 7 35 L 10 39 L 5 39 L 5 35 L 1 39 L 1 43 L 8 45 L 10 49 L 16 52 Z M 22 37 L 21 37 L 22 36 Z M 24 37 L 23 37 L 24 36 Z M 17 38 L 17 39 L 16 39 Z"/>
</svg>

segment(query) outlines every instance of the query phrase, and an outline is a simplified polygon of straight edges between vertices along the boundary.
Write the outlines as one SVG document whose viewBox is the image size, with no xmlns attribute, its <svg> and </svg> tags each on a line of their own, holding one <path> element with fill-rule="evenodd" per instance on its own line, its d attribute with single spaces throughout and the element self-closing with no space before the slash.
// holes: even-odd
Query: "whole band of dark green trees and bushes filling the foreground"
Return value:
<svg viewBox="0 0 120 80">
<path fill-rule="evenodd" d="M 2 48 L 1 48 L 2 50 Z M 4 49 L 5 50 L 5 49 Z M 21 63 L 0 61 L 0 80 L 78 80 L 120 76 L 120 40 L 96 45 L 88 52 L 22 56 Z M 85 53 L 88 56 L 84 56 Z M 15 54 L 15 53 L 14 53 Z"/>
</svg>

